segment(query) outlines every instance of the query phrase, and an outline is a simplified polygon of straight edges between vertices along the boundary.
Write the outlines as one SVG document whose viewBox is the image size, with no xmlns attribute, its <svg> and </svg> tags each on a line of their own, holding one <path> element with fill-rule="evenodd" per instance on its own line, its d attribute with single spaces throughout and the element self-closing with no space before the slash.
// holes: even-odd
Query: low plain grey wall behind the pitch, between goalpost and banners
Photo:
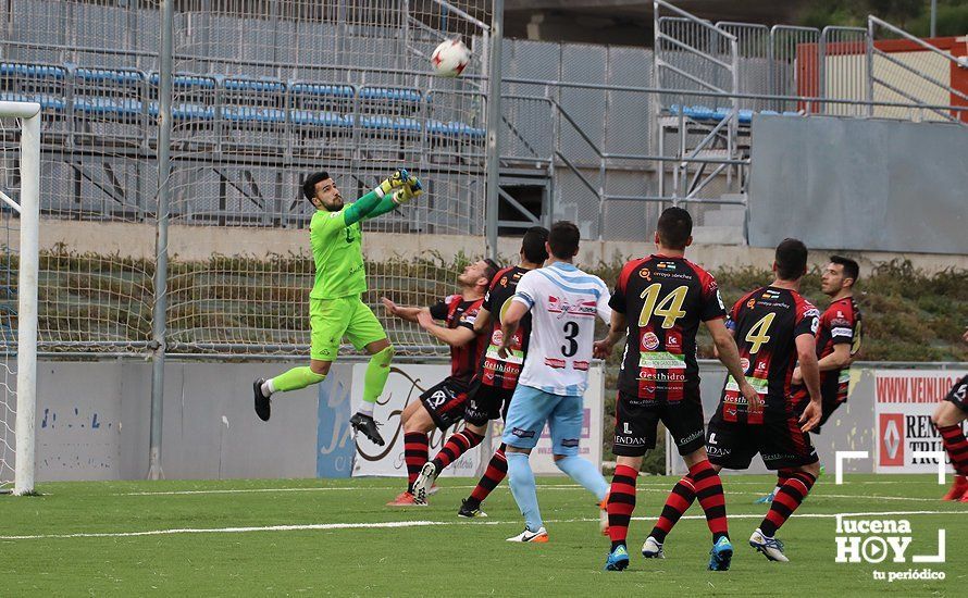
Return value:
<svg viewBox="0 0 968 598">
<path fill-rule="evenodd" d="M 295 364 L 170 360 L 163 403 L 165 476 L 314 476 L 315 389 L 278 398 L 285 408 L 276 409 L 269 422 L 258 421 L 252 413 L 252 379 Z M 331 377 L 348 375 L 349 370 L 349 364 L 337 364 Z M 41 361 L 37 376 L 37 479 L 144 478 L 148 472 L 150 389 L 150 363 Z"/>
</svg>

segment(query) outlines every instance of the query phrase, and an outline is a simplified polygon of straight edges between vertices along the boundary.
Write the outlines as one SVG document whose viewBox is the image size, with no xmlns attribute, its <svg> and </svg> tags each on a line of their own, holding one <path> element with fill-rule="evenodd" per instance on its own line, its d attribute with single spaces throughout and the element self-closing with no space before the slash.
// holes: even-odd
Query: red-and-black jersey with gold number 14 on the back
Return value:
<svg viewBox="0 0 968 598">
<path fill-rule="evenodd" d="M 683 398 L 684 388 L 698 387 L 699 322 L 725 317 L 708 272 L 681 257 L 632 260 L 622 269 L 608 304 L 629 322 L 619 390 L 675 401 Z"/>
</svg>

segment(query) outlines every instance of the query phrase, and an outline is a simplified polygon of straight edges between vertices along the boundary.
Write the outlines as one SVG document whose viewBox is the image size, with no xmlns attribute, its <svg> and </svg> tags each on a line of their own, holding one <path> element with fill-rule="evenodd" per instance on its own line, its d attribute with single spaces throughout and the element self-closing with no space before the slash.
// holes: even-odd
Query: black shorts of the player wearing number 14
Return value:
<svg viewBox="0 0 968 598">
<path fill-rule="evenodd" d="M 685 389 L 683 398 L 678 401 L 640 399 L 619 391 L 611 451 L 622 457 L 642 457 L 656 448 L 659 421 L 672 435 L 679 447 L 679 454 L 688 454 L 700 449 L 705 441 L 705 420 L 698 388 Z"/>
</svg>

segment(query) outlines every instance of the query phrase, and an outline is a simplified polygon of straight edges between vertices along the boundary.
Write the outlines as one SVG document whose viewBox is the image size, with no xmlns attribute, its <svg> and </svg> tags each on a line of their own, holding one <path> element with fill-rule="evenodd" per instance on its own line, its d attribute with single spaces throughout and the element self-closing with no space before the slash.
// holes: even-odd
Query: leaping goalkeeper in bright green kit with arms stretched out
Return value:
<svg viewBox="0 0 968 598">
<path fill-rule="evenodd" d="M 400 170 L 375 189 L 350 205 L 328 173 L 309 175 L 302 195 L 317 208 L 309 225 L 309 241 L 315 264 L 315 283 L 309 294 L 309 324 L 312 329 L 309 366 L 293 367 L 272 379 L 259 378 L 252 384 L 256 414 L 269 420 L 270 397 L 306 388 L 326 379 L 336 359 L 339 342 L 346 336 L 353 347 L 370 356 L 363 379 L 363 403 L 349 420 L 355 432 L 362 432 L 371 441 L 383 446 L 383 438 L 373 421 L 373 404 L 386 386 L 394 348 L 373 312 L 361 300 L 367 290 L 367 273 L 361 249 L 360 223 L 395 210 L 423 192 L 420 179 Z"/>
</svg>

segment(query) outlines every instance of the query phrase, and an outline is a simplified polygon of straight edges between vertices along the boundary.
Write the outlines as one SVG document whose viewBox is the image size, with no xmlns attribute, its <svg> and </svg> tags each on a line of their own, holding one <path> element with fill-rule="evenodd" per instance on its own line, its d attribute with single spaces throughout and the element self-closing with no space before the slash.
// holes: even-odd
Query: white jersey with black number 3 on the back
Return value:
<svg viewBox="0 0 968 598">
<path fill-rule="evenodd" d="M 553 395 L 579 396 L 588 386 L 595 317 L 611 319 L 601 278 L 555 262 L 518 282 L 513 300 L 531 310 L 531 341 L 519 384 Z"/>
</svg>

